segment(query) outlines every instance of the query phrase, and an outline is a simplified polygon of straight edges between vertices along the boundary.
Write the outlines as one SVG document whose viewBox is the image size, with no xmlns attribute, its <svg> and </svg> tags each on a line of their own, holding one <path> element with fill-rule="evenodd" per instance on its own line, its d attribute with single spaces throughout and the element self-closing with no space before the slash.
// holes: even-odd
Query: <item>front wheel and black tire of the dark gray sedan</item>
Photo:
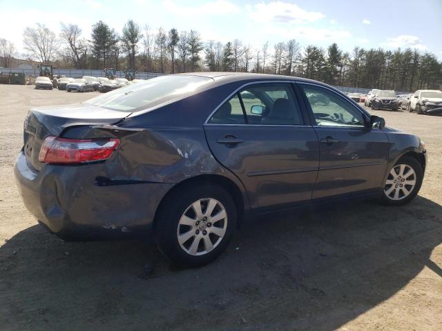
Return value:
<svg viewBox="0 0 442 331">
<path fill-rule="evenodd" d="M 410 173 L 411 170 L 412 173 Z M 382 192 L 382 202 L 386 205 L 405 205 L 405 203 L 409 203 L 421 189 L 422 181 L 423 169 L 421 163 L 414 157 L 402 157 L 390 169 Z M 414 185 L 412 185 L 413 182 Z"/>
</svg>

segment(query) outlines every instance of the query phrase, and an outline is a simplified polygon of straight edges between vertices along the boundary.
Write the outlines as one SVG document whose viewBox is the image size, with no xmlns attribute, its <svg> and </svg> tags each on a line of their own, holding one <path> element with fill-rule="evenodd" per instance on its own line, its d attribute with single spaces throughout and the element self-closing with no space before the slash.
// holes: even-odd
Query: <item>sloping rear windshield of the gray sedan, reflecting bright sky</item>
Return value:
<svg viewBox="0 0 442 331">
<path fill-rule="evenodd" d="M 137 111 L 191 94 L 213 79 L 200 76 L 168 75 L 141 81 L 89 99 L 86 103 L 120 111 Z"/>
</svg>

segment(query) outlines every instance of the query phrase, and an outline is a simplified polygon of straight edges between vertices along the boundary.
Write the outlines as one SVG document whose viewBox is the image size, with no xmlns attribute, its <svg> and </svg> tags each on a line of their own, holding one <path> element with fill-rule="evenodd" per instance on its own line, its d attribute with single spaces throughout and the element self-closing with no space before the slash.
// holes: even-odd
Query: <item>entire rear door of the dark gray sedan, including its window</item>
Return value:
<svg viewBox="0 0 442 331">
<path fill-rule="evenodd" d="M 244 86 L 215 110 L 204 131 L 213 156 L 242 181 L 255 210 L 311 200 L 318 139 L 291 83 Z"/>
</svg>

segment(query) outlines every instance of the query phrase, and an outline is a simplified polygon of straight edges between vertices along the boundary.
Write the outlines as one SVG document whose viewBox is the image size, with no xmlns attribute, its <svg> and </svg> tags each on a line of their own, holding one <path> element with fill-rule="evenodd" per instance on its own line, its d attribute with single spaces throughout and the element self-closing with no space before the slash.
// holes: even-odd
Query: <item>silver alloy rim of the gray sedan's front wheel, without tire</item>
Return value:
<svg viewBox="0 0 442 331">
<path fill-rule="evenodd" d="M 416 172 L 407 164 L 395 165 L 387 181 L 385 181 L 384 194 L 388 199 L 398 201 L 408 197 L 416 185 Z"/>
</svg>

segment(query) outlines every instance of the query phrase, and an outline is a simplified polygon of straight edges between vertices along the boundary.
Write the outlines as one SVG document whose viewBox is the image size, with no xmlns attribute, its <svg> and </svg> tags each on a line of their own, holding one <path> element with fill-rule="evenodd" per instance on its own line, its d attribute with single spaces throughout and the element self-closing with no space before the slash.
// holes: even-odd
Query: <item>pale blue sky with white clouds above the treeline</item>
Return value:
<svg viewBox="0 0 442 331">
<path fill-rule="evenodd" d="M 260 48 L 269 41 L 296 39 L 301 46 L 344 50 L 417 48 L 442 59 L 442 0 L 422 1 L 234 1 L 234 0 L 0 0 L 0 38 L 22 51 L 23 29 L 43 22 L 56 32 L 59 21 L 76 23 L 86 37 L 100 19 L 118 32 L 128 19 L 155 31 L 195 29 L 204 40 L 238 38 Z M 66 1 L 67 3 L 67 1 Z"/>
</svg>

